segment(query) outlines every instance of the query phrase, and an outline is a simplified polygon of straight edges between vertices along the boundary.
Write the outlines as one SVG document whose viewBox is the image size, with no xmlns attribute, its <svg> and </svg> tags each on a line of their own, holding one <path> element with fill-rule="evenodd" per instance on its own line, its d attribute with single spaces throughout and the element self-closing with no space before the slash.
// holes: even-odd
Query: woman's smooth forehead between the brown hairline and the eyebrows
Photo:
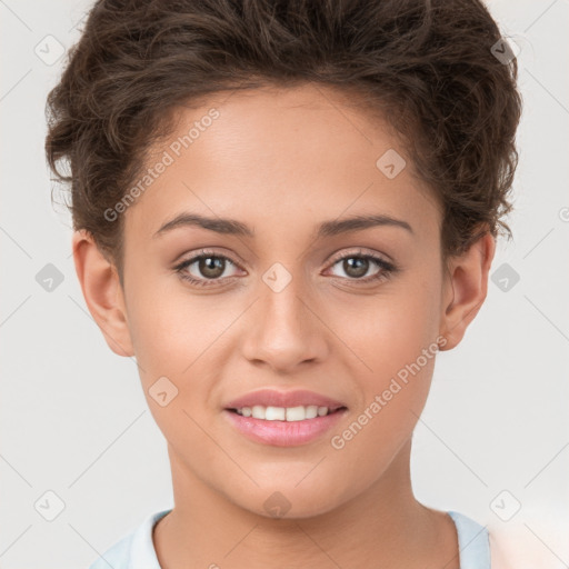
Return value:
<svg viewBox="0 0 569 569">
<path fill-rule="evenodd" d="M 151 234 L 190 211 L 276 233 L 382 213 L 405 218 L 419 238 L 438 233 L 439 204 L 397 136 L 353 102 L 303 86 L 216 93 L 177 109 L 174 131 L 151 149 L 154 173 L 127 227 Z"/>
</svg>

